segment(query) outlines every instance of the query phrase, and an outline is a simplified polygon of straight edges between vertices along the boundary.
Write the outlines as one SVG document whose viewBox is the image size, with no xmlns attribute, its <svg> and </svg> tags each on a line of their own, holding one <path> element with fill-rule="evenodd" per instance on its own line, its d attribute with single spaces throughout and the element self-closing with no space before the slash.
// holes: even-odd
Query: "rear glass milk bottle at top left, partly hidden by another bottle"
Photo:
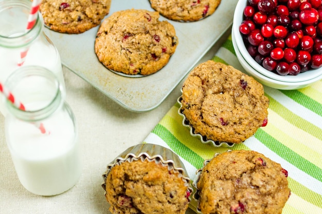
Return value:
<svg viewBox="0 0 322 214">
<path fill-rule="evenodd" d="M 30 9 L 29 0 L 0 1 L 0 82 L 4 83 L 19 67 L 37 65 L 54 72 L 64 88 L 60 55 L 43 32 L 44 22 L 40 13 L 37 13 L 33 28 L 26 30 Z M 27 55 L 23 59 L 21 54 L 26 50 Z M 4 98 L 0 94 L 0 112 L 6 115 L 4 106 Z"/>
</svg>

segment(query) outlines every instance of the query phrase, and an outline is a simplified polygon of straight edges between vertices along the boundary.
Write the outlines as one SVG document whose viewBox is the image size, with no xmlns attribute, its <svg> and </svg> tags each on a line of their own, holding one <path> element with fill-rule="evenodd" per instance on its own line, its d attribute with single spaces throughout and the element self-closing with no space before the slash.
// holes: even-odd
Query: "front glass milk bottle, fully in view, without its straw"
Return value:
<svg viewBox="0 0 322 214">
<path fill-rule="evenodd" d="M 24 66 L 4 85 L 25 107 L 6 102 L 6 141 L 21 184 L 41 196 L 67 191 L 78 181 L 82 165 L 75 117 L 57 76 L 43 67 Z"/>
</svg>

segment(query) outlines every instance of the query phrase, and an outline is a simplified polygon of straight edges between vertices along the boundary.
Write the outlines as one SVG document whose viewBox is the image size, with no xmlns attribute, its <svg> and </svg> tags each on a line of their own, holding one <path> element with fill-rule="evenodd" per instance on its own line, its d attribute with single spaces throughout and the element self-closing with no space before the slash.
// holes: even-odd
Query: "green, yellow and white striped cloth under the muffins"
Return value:
<svg viewBox="0 0 322 214">
<path fill-rule="evenodd" d="M 231 36 L 213 57 L 214 61 L 244 71 L 232 47 Z M 182 125 L 175 104 L 145 139 L 172 149 L 177 153 L 191 180 L 196 169 L 214 153 L 227 149 L 255 150 L 278 162 L 289 171 L 292 194 L 283 208 L 283 214 L 322 213 L 322 80 L 299 90 L 277 90 L 264 86 L 270 99 L 269 123 L 243 144 L 214 147 L 202 144 Z M 190 207 L 195 210 L 196 202 Z"/>
</svg>

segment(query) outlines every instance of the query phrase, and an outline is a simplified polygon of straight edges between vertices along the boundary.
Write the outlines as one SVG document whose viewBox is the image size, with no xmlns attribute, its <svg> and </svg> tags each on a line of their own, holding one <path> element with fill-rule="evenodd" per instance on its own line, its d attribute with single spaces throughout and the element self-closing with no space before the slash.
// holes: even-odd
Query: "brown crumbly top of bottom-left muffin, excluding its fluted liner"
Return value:
<svg viewBox="0 0 322 214">
<path fill-rule="evenodd" d="M 106 178 L 112 213 L 185 213 L 188 187 L 173 169 L 155 161 L 123 162 Z"/>
</svg>

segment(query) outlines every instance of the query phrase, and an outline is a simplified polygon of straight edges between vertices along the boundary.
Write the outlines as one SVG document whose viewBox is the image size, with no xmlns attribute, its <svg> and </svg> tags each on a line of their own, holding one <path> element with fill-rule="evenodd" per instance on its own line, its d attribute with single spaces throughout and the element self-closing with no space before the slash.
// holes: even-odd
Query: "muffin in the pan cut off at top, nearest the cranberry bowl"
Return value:
<svg viewBox="0 0 322 214">
<path fill-rule="evenodd" d="M 151 7 L 174 21 L 194 22 L 211 15 L 221 0 L 150 0 Z"/>
</svg>

